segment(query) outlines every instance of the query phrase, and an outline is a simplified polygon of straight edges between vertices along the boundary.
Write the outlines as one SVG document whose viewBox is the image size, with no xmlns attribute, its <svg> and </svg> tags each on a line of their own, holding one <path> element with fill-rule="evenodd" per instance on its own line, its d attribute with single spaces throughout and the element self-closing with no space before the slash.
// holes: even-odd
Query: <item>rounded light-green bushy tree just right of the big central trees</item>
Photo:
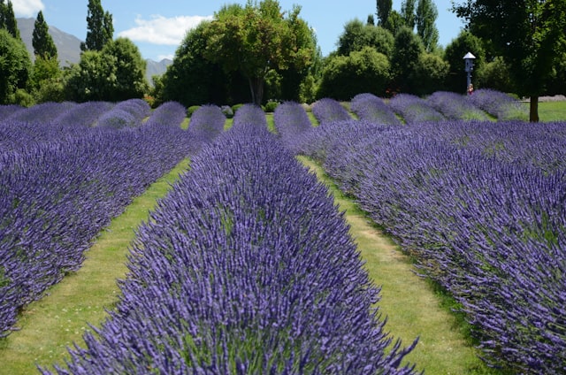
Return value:
<svg viewBox="0 0 566 375">
<path fill-rule="evenodd" d="M 389 80 L 387 57 L 371 47 L 364 47 L 349 56 L 328 58 L 317 97 L 350 100 L 360 93 L 384 96 Z"/>
</svg>

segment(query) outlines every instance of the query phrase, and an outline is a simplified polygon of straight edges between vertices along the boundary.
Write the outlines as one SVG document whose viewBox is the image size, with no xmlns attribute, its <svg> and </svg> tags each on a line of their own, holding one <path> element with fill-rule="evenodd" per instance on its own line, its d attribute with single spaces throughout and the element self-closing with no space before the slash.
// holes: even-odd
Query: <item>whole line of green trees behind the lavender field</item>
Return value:
<svg viewBox="0 0 566 375">
<path fill-rule="evenodd" d="M 119 101 L 145 96 L 152 103 L 312 103 L 329 96 L 349 100 L 435 91 L 465 92 L 463 56 L 477 59 L 476 87 L 531 97 L 563 93 L 566 85 L 566 0 L 492 4 L 465 0 L 453 9 L 465 29 L 439 46 L 438 10 L 432 0 L 377 0 L 365 22 L 352 19 L 337 49 L 323 57 L 317 35 L 300 17 L 301 7 L 282 11 L 277 0 L 228 4 L 189 30 L 166 73 L 145 79 L 145 61 L 133 42 L 113 40 L 112 16 L 89 0 L 88 33 L 80 62 L 60 68 L 40 11 L 34 27 L 34 63 L 27 56 L 11 10 L 0 0 L 0 103 Z M 374 17 L 375 16 L 375 17 Z"/>
</svg>

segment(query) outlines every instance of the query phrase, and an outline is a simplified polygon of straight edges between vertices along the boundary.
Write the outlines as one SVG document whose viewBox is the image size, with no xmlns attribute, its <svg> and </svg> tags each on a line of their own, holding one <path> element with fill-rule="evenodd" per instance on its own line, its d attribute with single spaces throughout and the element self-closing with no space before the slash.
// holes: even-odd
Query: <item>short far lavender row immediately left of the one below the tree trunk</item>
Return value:
<svg viewBox="0 0 566 375">
<path fill-rule="evenodd" d="M 191 137 L 210 142 L 224 131 L 226 116 L 218 105 L 202 105 L 191 116 L 188 133 Z"/>
</svg>

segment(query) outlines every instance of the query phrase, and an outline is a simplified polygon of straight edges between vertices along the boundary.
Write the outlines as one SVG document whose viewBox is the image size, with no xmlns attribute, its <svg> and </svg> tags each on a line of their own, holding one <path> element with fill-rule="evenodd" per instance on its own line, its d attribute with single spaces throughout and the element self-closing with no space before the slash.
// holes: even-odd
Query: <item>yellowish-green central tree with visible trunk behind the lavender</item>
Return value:
<svg viewBox="0 0 566 375">
<path fill-rule="evenodd" d="M 272 69 L 301 70 L 312 63 L 312 46 L 300 45 L 294 34 L 293 20 L 300 11 L 295 6 L 286 18 L 276 0 L 225 6 L 206 28 L 204 56 L 226 72 L 241 72 L 249 81 L 252 102 L 260 104 L 265 77 Z"/>
</svg>

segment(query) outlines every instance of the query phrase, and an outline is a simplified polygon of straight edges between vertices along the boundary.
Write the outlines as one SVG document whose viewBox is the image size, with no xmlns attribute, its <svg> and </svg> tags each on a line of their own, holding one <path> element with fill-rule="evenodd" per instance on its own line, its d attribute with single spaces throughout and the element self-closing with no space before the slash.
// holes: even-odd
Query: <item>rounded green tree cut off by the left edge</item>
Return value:
<svg viewBox="0 0 566 375">
<path fill-rule="evenodd" d="M 13 102 L 19 88 L 26 88 L 32 62 L 26 45 L 7 30 L 0 29 L 0 103 Z"/>
</svg>

